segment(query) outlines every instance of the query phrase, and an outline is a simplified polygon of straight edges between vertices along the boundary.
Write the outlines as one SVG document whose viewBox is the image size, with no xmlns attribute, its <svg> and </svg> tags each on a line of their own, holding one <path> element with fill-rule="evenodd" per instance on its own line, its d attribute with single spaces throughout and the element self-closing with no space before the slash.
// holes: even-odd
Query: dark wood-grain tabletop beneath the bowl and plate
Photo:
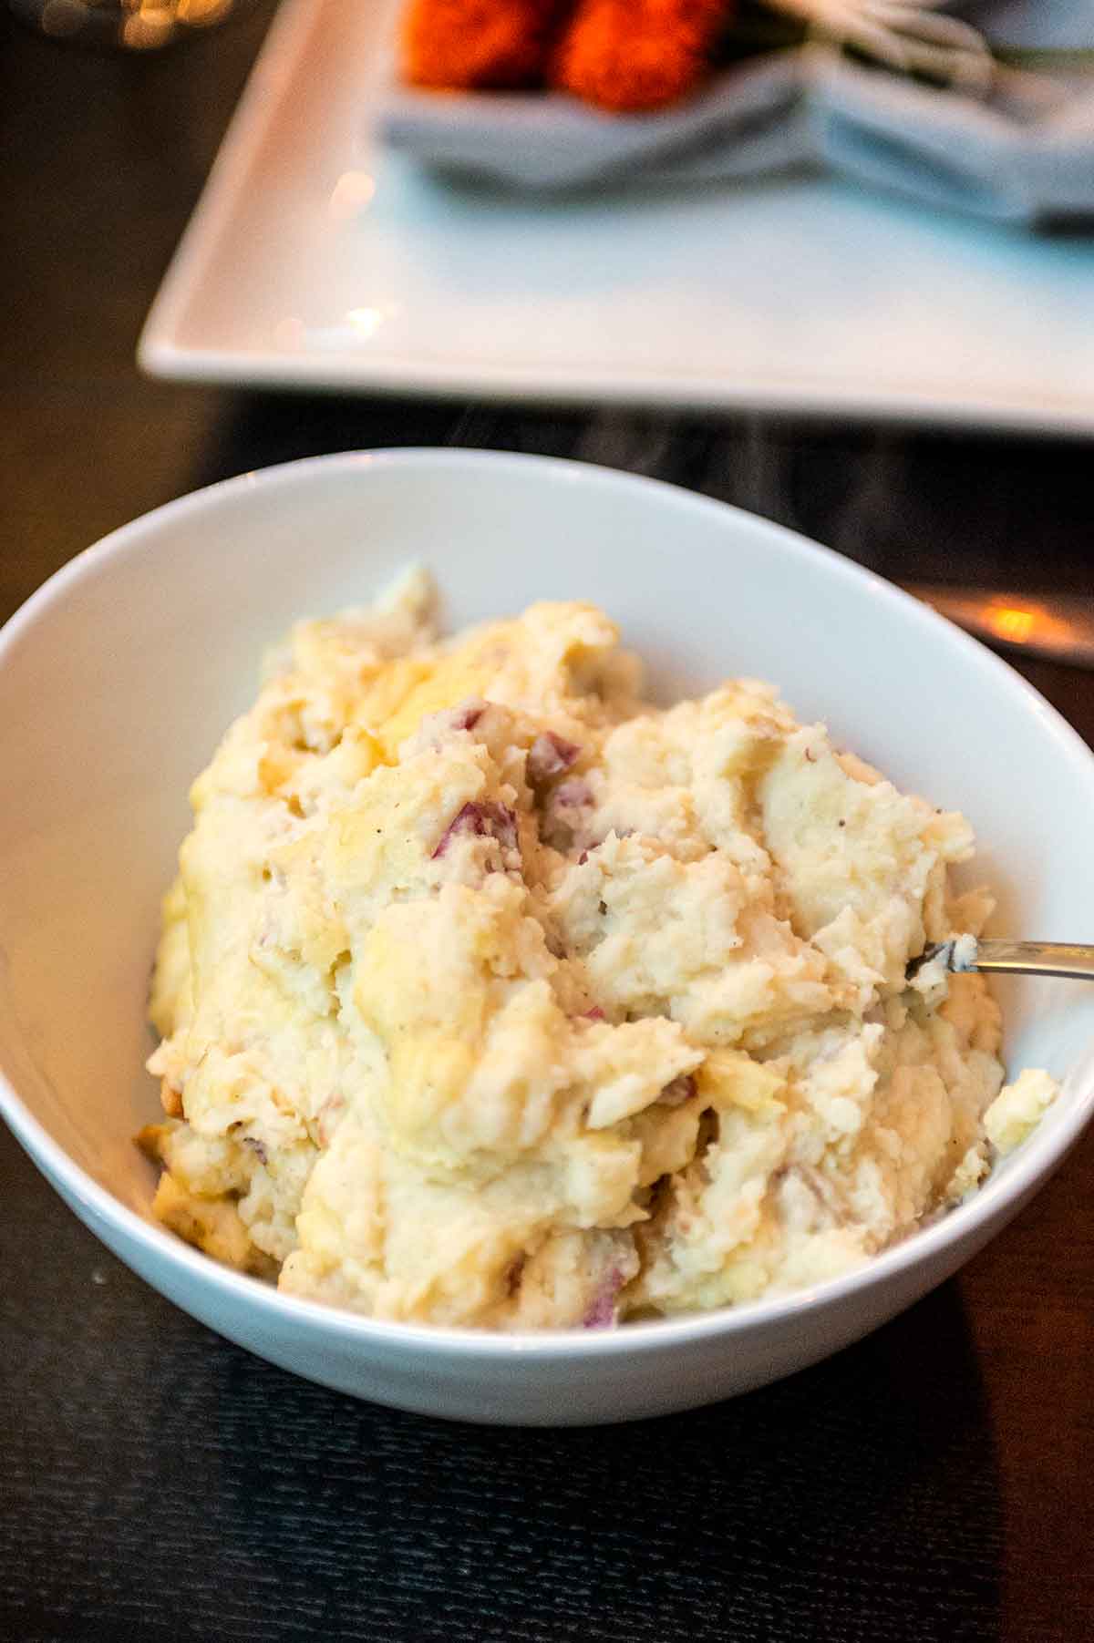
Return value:
<svg viewBox="0 0 1094 1643">
<path fill-rule="evenodd" d="M 140 324 L 269 15 L 122 59 L 0 10 L 0 616 L 171 496 L 378 444 L 657 473 L 892 577 L 1089 585 L 1083 442 L 141 380 Z M 1028 674 L 1094 739 L 1094 675 Z M 0 1130 L 0 1638 L 1094 1638 L 1092 1201 L 1087 1137 L 959 1280 L 828 1364 L 641 1428 L 513 1434 L 228 1346 Z"/>
</svg>

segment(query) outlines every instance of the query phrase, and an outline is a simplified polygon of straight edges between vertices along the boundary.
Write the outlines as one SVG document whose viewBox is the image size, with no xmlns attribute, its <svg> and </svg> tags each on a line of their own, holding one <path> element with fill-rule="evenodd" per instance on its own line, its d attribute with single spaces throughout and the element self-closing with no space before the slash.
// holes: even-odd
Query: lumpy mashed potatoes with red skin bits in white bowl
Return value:
<svg viewBox="0 0 1094 1643">
<path fill-rule="evenodd" d="M 966 822 L 775 692 L 667 711 L 580 605 L 297 626 L 192 789 L 156 1211 L 294 1295 L 603 1326 L 846 1272 L 972 1190 L 1000 1094 Z"/>
</svg>

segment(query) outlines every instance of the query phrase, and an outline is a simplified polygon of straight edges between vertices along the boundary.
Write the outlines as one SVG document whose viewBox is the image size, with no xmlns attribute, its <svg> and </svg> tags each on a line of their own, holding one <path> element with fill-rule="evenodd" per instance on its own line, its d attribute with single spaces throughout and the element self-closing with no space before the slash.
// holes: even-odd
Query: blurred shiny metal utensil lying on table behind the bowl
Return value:
<svg viewBox="0 0 1094 1643">
<path fill-rule="evenodd" d="M 1094 667 L 1094 596 L 922 583 L 905 583 L 905 590 L 989 644 L 1073 667 Z"/>
</svg>

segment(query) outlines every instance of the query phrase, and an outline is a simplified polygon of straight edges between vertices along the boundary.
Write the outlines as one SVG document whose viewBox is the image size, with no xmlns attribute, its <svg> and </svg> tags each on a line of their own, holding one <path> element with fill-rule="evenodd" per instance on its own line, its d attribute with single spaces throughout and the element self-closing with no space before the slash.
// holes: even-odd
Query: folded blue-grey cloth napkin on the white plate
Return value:
<svg viewBox="0 0 1094 1643">
<path fill-rule="evenodd" d="M 522 191 L 680 184 L 831 168 L 1002 222 L 1094 219 L 1094 0 L 953 8 L 1007 48 L 982 95 L 854 61 L 836 46 L 746 59 L 652 115 L 554 92 L 393 85 L 384 140 L 447 174 Z M 1033 67 L 1014 67 L 1017 58 Z"/>
</svg>

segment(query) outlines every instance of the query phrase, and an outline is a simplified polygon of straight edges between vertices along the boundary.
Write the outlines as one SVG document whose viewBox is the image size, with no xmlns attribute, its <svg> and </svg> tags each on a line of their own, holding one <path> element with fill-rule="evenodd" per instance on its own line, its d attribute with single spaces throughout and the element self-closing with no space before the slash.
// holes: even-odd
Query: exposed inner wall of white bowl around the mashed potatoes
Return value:
<svg viewBox="0 0 1094 1643">
<path fill-rule="evenodd" d="M 999 930 L 1094 938 L 1094 757 L 995 657 L 836 555 L 667 486 L 536 458 L 411 452 L 248 475 L 117 532 L 0 637 L 0 1071 L 138 1213 L 153 1180 L 131 1135 L 159 1111 L 145 994 L 189 782 L 251 700 L 268 642 L 414 560 L 452 628 L 536 598 L 601 603 L 662 698 L 726 674 L 774 680 L 800 716 L 969 815 Z M 1012 983 L 1004 1002 L 1012 1066 L 1061 1075 L 1094 1040 L 1079 983 Z"/>
</svg>

